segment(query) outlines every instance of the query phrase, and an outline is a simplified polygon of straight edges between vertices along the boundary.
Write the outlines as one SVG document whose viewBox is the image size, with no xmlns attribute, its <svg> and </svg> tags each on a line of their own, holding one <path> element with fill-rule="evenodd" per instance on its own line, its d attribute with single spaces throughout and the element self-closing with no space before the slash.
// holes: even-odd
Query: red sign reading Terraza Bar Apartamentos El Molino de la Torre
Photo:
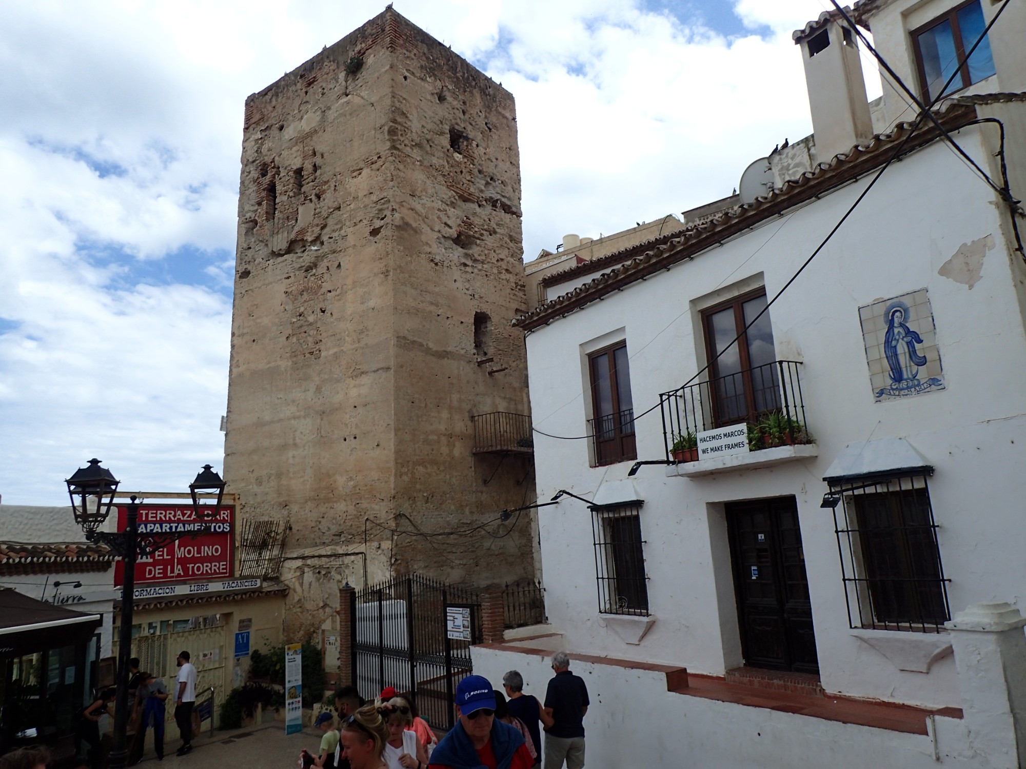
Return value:
<svg viewBox="0 0 1026 769">
<path fill-rule="evenodd" d="M 183 537 L 141 559 L 135 564 L 136 585 L 232 578 L 235 505 L 222 505 L 216 515 L 212 507 L 200 510 L 206 518 L 197 520 L 192 504 L 140 505 L 140 534 L 195 531 L 202 527 L 211 529 L 211 533 Z M 127 521 L 128 509 L 119 504 L 118 531 L 124 531 Z M 114 584 L 124 584 L 124 563 L 120 559 L 114 564 Z"/>
</svg>

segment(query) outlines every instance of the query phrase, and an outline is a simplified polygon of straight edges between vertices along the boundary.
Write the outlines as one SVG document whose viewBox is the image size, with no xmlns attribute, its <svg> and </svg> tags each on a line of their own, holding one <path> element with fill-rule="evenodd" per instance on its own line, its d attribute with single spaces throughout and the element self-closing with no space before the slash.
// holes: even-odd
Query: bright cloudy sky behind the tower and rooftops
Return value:
<svg viewBox="0 0 1026 769">
<path fill-rule="evenodd" d="M 396 7 L 516 96 L 529 257 L 727 195 L 807 133 L 790 32 L 824 2 L 737 0 L 770 34 L 729 40 L 635 0 Z M 5 4 L 4 501 L 60 503 L 93 453 L 137 488 L 220 466 L 244 99 L 382 5 Z"/>
</svg>

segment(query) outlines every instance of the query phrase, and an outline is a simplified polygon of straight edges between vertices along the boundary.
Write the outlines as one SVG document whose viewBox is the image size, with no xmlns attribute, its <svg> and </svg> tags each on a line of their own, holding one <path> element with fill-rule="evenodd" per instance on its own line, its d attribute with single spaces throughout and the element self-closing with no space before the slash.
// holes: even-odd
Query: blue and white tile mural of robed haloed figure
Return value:
<svg viewBox="0 0 1026 769">
<path fill-rule="evenodd" d="M 934 314 L 925 288 L 861 307 L 859 320 L 875 400 L 908 398 L 944 389 Z"/>
</svg>

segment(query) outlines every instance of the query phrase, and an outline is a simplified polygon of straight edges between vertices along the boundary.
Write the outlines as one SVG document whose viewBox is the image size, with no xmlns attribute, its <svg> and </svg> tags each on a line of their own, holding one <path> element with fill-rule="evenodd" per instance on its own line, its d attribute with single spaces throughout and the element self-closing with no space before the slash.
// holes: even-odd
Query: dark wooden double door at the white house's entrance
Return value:
<svg viewBox="0 0 1026 769">
<path fill-rule="evenodd" d="M 793 496 L 726 505 L 745 663 L 819 673 Z"/>
</svg>

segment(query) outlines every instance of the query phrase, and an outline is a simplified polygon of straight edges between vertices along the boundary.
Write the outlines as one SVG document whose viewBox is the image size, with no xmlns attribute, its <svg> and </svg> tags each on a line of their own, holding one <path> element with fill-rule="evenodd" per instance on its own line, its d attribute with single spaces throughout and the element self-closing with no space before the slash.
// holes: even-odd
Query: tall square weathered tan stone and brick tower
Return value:
<svg viewBox="0 0 1026 769">
<path fill-rule="evenodd" d="M 391 6 L 246 99 L 225 477 L 289 520 L 292 630 L 362 583 L 343 553 L 534 575 L 534 516 L 497 520 L 526 441 L 475 453 L 472 421 L 528 413 L 520 215 L 512 94 Z"/>
</svg>

